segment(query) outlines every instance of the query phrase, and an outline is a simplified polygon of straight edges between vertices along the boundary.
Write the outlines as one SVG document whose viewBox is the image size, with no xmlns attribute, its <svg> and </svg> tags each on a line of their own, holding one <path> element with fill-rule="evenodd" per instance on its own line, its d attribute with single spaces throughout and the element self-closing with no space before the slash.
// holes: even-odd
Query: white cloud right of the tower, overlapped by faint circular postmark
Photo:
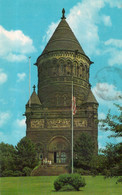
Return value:
<svg viewBox="0 0 122 195">
<path fill-rule="evenodd" d="M 117 91 L 114 85 L 108 83 L 97 83 L 92 89 L 95 96 L 105 101 L 118 101 L 122 99 L 122 92 Z"/>
</svg>

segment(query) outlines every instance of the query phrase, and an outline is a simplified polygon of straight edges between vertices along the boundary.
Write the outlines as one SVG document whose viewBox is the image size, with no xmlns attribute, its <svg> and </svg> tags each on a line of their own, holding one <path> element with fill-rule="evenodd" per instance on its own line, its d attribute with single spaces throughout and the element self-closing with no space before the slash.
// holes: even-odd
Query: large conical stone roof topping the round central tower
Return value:
<svg viewBox="0 0 122 195">
<path fill-rule="evenodd" d="M 65 18 L 62 18 L 42 54 L 51 51 L 76 51 L 85 54 Z"/>
</svg>

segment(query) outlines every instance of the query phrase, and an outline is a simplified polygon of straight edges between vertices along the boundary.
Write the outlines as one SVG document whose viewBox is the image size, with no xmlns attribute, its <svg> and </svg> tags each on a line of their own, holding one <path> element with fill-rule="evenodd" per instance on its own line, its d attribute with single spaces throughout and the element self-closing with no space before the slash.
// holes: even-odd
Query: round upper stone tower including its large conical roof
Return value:
<svg viewBox="0 0 122 195">
<path fill-rule="evenodd" d="M 63 16 L 36 63 L 38 96 L 44 107 L 70 108 L 72 80 L 77 106 L 81 106 L 90 89 L 90 64 Z"/>
</svg>

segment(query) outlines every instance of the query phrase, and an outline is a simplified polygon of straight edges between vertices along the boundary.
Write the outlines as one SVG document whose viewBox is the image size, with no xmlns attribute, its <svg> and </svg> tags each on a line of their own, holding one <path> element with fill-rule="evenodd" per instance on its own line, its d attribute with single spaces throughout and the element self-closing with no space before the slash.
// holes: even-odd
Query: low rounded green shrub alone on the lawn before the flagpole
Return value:
<svg viewBox="0 0 122 195">
<path fill-rule="evenodd" d="M 82 178 L 81 175 L 79 174 L 60 175 L 54 181 L 54 188 L 56 191 L 59 191 L 65 185 L 71 185 L 75 188 L 75 190 L 79 191 L 79 188 L 84 187 L 86 183 L 85 183 L 85 179 Z"/>
</svg>

